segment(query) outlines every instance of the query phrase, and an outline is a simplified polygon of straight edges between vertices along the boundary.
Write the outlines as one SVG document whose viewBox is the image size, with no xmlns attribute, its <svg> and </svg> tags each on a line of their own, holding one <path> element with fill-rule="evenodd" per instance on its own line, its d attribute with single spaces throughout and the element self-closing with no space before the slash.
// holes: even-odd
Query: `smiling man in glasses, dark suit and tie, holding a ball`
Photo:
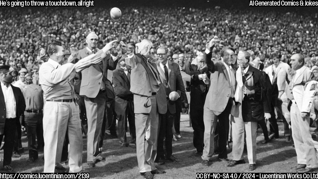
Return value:
<svg viewBox="0 0 318 179">
<path fill-rule="evenodd" d="M 159 77 L 165 86 L 166 94 L 172 91 L 179 90 L 181 92 L 183 103 L 188 103 L 185 94 L 185 89 L 183 85 L 183 80 L 180 72 L 180 68 L 176 63 L 168 61 L 167 50 L 164 47 L 159 47 L 157 50 L 157 55 L 159 57 L 158 61 L 153 63 L 154 67 L 159 72 Z M 172 157 L 172 124 L 176 114 L 176 105 L 174 102 L 167 99 L 168 110 L 165 114 L 159 114 L 159 136 L 158 136 L 158 146 L 157 146 L 157 157 L 156 161 L 175 161 Z M 165 149 L 163 140 L 165 139 Z"/>
</svg>

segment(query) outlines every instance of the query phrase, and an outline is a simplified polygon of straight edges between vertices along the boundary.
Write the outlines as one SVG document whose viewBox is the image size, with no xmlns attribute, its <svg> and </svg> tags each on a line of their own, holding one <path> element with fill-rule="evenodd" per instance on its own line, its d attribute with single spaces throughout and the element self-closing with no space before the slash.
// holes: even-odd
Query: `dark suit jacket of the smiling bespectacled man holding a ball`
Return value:
<svg viewBox="0 0 318 179">
<path fill-rule="evenodd" d="M 160 67 L 159 61 L 152 63 L 152 65 L 157 69 L 157 71 L 159 73 L 160 80 L 162 81 L 163 85 L 165 86 L 166 95 L 169 96 L 170 92 L 179 90 L 181 92 L 181 99 L 183 99 L 183 102 L 188 103 L 179 65 L 176 63 L 173 63 L 171 61 L 167 61 L 167 64 L 169 67 L 169 69 L 168 69 L 168 82 L 167 82 L 166 76 L 164 74 L 164 71 L 162 71 L 162 69 Z M 168 105 L 169 112 L 171 114 L 176 113 L 176 104 L 175 103 L 167 100 L 167 105 Z"/>
</svg>

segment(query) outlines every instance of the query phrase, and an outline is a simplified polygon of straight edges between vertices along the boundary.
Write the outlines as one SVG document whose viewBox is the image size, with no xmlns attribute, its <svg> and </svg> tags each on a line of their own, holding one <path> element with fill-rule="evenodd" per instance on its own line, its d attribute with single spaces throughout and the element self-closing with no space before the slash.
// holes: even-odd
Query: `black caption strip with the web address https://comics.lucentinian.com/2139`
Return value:
<svg viewBox="0 0 318 179">
<path fill-rule="evenodd" d="M 89 179 L 89 173 L 0 173 L 1 179 Z"/>
</svg>

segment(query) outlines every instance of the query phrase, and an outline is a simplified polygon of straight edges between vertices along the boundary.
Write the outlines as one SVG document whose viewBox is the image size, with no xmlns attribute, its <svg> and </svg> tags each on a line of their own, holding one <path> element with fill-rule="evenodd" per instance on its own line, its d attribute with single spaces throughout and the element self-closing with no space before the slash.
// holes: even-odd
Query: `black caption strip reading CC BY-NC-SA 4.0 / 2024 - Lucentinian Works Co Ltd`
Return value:
<svg viewBox="0 0 318 179">
<path fill-rule="evenodd" d="M 197 173 L 197 179 L 318 179 L 318 173 Z"/>
</svg>

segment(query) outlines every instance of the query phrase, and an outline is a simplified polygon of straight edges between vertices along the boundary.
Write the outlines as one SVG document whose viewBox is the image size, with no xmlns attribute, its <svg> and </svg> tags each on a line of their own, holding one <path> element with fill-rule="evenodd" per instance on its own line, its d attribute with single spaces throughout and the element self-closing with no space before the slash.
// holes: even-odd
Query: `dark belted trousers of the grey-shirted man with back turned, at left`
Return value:
<svg viewBox="0 0 318 179">
<path fill-rule="evenodd" d="M 38 156 L 32 156 L 30 154 L 30 150 L 37 150 L 37 142 L 38 138 L 38 146 L 44 146 L 43 139 L 43 113 L 32 113 L 24 111 L 24 122 L 25 128 L 28 137 L 28 149 L 29 149 L 29 158 L 38 158 Z M 32 153 L 32 152 L 31 152 Z"/>
</svg>

